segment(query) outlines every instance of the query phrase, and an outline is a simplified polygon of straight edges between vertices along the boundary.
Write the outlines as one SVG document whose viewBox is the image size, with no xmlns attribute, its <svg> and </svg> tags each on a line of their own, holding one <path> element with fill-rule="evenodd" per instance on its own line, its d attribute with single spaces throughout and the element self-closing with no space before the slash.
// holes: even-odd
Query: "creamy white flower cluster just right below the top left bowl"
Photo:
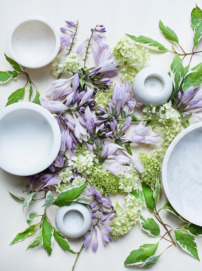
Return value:
<svg viewBox="0 0 202 271">
<path fill-rule="evenodd" d="M 67 56 L 56 57 L 52 63 L 52 73 L 58 76 L 60 73 L 76 73 L 82 68 L 81 57 L 70 52 Z"/>
</svg>

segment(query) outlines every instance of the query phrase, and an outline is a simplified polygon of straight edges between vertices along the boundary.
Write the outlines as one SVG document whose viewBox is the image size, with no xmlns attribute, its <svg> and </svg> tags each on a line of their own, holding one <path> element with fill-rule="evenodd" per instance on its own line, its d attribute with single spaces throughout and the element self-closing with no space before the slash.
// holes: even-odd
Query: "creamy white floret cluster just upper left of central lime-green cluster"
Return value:
<svg viewBox="0 0 202 271">
<path fill-rule="evenodd" d="M 68 165 L 73 166 L 73 168 L 77 169 L 78 172 L 83 172 L 85 170 L 87 174 L 90 174 L 94 168 L 93 159 L 95 156 L 95 154 L 87 150 L 83 154 L 72 156 Z"/>
</svg>

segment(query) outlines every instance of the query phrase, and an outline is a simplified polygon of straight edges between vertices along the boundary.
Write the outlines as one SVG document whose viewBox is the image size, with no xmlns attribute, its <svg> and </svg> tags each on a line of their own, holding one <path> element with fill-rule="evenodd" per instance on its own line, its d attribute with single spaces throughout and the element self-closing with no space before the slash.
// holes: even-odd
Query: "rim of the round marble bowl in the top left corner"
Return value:
<svg viewBox="0 0 202 271">
<path fill-rule="evenodd" d="M 13 48 L 12 48 L 12 35 L 14 33 L 14 31 L 16 30 L 16 28 L 26 22 L 26 21 L 32 21 L 32 20 L 35 20 L 35 21 L 41 21 L 41 22 L 44 22 L 45 24 L 47 24 L 53 31 L 54 33 L 54 36 L 55 36 L 55 48 L 52 52 L 52 54 L 46 59 L 46 60 L 43 60 L 41 62 L 40 65 L 32 65 L 31 62 L 28 60 L 28 61 L 24 61 L 24 60 L 21 60 L 14 52 Z M 41 16 L 26 16 L 24 18 L 21 18 L 20 20 L 16 21 L 12 27 L 10 28 L 10 30 L 8 31 L 8 35 L 7 35 L 7 48 L 8 48 L 8 51 L 9 51 L 9 54 L 11 55 L 11 57 L 18 63 L 20 64 L 21 66 L 23 67 L 26 67 L 26 68 L 31 68 L 31 69 L 37 69 L 37 68 L 41 68 L 41 67 L 44 67 L 46 65 L 48 65 L 49 63 L 52 62 L 52 60 L 54 60 L 54 58 L 57 56 L 58 52 L 59 52 L 59 48 L 60 48 L 60 35 L 59 35 L 59 32 L 57 31 L 57 28 L 49 21 L 47 20 L 46 18 L 44 17 L 41 17 Z"/>
</svg>

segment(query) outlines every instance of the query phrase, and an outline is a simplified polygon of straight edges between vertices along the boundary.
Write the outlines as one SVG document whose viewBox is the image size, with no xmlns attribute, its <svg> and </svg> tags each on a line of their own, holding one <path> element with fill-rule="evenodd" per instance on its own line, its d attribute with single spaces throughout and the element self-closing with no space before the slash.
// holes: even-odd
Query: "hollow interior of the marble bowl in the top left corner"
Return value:
<svg viewBox="0 0 202 271">
<path fill-rule="evenodd" d="M 28 20 L 15 28 L 11 47 L 23 63 L 40 66 L 54 52 L 56 37 L 48 24 L 40 20 Z"/>
</svg>

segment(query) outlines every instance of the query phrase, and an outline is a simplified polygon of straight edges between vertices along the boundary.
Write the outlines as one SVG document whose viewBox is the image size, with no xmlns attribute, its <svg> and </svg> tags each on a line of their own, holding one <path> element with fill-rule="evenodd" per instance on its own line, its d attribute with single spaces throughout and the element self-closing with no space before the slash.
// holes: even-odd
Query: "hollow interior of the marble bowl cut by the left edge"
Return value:
<svg viewBox="0 0 202 271">
<path fill-rule="evenodd" d="M 32 172 L 47 158 L 53 144 L 50 123 L 35 110 L 16 109 L 0 120 L 0 157 L 8 168 Z"/>
</svg>

